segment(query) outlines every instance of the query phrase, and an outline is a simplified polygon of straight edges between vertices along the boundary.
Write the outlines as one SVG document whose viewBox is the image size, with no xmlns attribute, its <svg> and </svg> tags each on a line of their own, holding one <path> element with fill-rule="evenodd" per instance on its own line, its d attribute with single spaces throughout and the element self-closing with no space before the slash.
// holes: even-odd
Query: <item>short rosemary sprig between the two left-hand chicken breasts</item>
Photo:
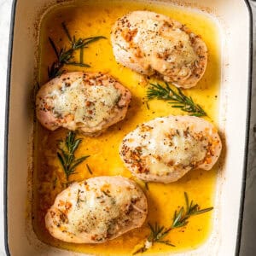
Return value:
<svg viewBox="0 0 256 256">
<path fill-rule="evenodd" d="M 75 151 L 79 148 L 82 139 L 76 139 L 74 131 L 67 133 L 66 141 L 59 141 L 57 156 L 61 162 L 63 171 L 66 174 L 67 180 L 70 175 L 74 174 L 75 168 L 79 166 L 90 155 L 82 156 L 76 159 L 74 156 Z"/>
</svg>

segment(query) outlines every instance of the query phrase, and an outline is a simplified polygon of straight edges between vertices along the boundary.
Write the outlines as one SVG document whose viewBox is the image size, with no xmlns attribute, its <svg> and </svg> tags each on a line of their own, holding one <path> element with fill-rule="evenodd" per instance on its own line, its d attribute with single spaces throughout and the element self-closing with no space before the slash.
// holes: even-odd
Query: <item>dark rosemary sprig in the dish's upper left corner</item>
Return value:
<svg viewBox="0 0 256 256">
<path fill-rule="evenodd" d="M 72 37 L 70 35 L 70 32 L 68 31 L 67 26 L 65 25 L 64 22 L 61 23 L 61 26 L 67 35 L 70 46 L 68 48 L 63 47 L 60 50 L 58 50 L 52 38 L 49 38 L 49 44 L 54 49 L 55 55 L 57 58 L 57 61 L 54 61 L 53 64 L 50 67 L 48 67 L 49 79 L 54 79 L 55 77 L 60 76 L 62 73 L 64 73 L 64 70 L 62 70 L 62 67 L 64 67 L 64 65 L 90 67 L 90 65 L 84 63 L 84 48 L 88 48 L 87 46 L 88 44 L 96 42 L 99 39 L 105 38 L 105 37 L 99 36 L 99 37 L 76 39 L 75 36 Z M 73 58 L 74 58 L 73 54 L 74 54 L 74 51 L 76 50 L 80 50 L 79 62 L 73 61 Z"/>
</svg>

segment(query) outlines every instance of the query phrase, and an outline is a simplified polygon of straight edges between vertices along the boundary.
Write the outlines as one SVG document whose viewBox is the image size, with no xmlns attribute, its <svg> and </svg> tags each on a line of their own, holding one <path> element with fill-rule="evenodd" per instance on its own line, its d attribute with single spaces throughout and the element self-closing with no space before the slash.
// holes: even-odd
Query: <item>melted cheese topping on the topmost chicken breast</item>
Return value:
<svg viewBox="0 0 256 256">
<path fill-rule="evenodd" d="M 178 27 L 170 28 L 165 20 L 139 20 L 132 25 L 137 28 L 133 41 L 140 45 L 146 58 L 150 58 L 152 53 L 166 55 L 165 61 L 175 63 L 177 68 L 185 68 L 183 66 L 198 60 L 189 35 Z"/>
</svg>

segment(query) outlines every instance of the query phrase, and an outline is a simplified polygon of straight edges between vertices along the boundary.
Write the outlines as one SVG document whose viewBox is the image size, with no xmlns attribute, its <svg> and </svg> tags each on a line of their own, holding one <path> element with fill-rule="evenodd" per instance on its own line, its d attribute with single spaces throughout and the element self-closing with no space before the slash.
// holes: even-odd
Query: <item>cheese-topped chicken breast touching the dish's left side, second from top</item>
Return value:
<svg viewBox="0 0 256 256">
<path fill-rule="evenodd" d="M 59 127 L 96 136 L 125 118 L 131 93 L 103 73 L 65 73 L 38 91 L 38 120 L 50 131 Z"/>
</svg>

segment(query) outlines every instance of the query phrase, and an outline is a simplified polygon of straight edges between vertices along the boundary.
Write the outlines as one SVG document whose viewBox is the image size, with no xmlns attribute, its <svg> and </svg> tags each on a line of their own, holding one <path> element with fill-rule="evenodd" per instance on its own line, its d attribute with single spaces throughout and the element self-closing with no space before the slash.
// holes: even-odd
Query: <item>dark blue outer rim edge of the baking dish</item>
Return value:
<svg viewBox="0 0 256 256">
<path fill-rule="evenodd" d="M 244 211 L 245 201 L 245 189 L 246 189 L 246 175 L 247 175 L 247 158 L 248 158 L 248 143 L 250 132 L 250 117 L 251 117 L 251 93 L 252 93 L 252 72 L 253 72 L 253 12 L 249 0 L 244 0 L 247 5 L 249 13 L 249 63 L 248 63 L 248 92 L 247 92 L 247 127 L 246 127 L 246 146 L 244 149 L 244 164 L 243 164 L 243 177 L 241 184 L 241 201 L 240 201 L 240 213 L 239 224 L 236 236 L 236 255 L 238 256 L 241 249 L 241 230 L 242 219 Z M 3 170 L 3 228 L 4 228 L 4 247 L 6 255 L 11 255 L 9 252 L 8 242 L 8 137 L 9 137 L 9 95 L 10 95 L 10 77 L 11 77 L 11 64 L 13 55 L 13 43 L 14 43 L 14 31 L 15 31 L 15 14 L 16 14 L 17 0 L 12 3 L 11 22 L 9 32 L 9 56 L 8 56 L 8 68 L 7 68 L 7 81 L 6 81 L 6 105 L 5 105 L 5 131 L 4 131 L 4 170 Z"/>
</svg>

